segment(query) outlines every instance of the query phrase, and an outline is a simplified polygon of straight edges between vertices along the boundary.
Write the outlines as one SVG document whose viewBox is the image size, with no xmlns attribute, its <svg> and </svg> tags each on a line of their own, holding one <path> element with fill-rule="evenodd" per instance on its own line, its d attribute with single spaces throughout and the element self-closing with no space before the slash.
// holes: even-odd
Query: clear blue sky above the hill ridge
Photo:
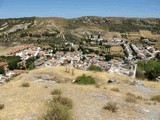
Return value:
<svg viewBox="0 0 160 120">
<path fill-rule="evenodd" d="M 0 0 L 0 18 L 160 18 L 160 0 Z"/>
</svg>

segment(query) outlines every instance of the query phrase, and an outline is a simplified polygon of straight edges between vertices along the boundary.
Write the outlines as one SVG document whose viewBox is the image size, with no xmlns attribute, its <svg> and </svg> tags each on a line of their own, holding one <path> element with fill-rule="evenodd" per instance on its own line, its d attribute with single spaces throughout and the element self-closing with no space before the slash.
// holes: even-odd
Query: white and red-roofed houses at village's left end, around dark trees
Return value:
<svg viewBox="0 0 160 120">
<path fill-rule="evenodd" d="M 28 60 L 31 57 L 44 56 L 44 52 L 40 47 L 36 47 L 33 45 L 25 45 L 23 47 L 19 47 L 10 51 L 8 55 L 19 56 L 21 58 L 21 61 L 18 63 L 18 65 L 26 67 L 26 60 Z M 19 69 L 9 70 L 7 62 L 0 62 L 0 67 L 3 67 L 5 70 L 4 75 L 0 74 L 0 83 L 4 82 L 6 79 L 11 78 L 12 76 L 28 72 L 28 70 Z"/>
</svg>

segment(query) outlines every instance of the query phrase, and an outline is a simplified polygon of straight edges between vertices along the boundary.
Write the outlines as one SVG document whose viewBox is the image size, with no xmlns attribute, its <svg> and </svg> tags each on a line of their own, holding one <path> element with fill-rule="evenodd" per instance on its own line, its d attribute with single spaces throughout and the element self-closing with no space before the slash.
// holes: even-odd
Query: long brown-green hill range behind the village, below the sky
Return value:
<svg viewBox="0 0 160 120">
<path fill-rule="evenodd" d="M 0 44 L 50 43 L 63 41 L 77 42 L 92 34 L 101 34 L 110 39 L 121 34 L 134 33 L 140 37 L 141 31 L 149 31 L 149 37 L 159 37 L 160 18 L 118 18 L 85 16 L 80 18 L 13 18 L 0 19 Z M 146 34 L 147 35 L 147 34 Z M 153 36 L 152 36 L 153 35 Z M 148 36 L 143 36 L 148 37 Z"/>
</svg>

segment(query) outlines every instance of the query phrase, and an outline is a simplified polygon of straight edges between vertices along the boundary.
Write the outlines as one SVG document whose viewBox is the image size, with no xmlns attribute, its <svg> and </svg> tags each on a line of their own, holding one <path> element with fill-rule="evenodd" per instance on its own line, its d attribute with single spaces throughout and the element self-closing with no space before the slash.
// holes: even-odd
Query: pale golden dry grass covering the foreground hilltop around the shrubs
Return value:
<svg viewBox="0 0 160 120">
<path fill-rule="evenodd" d="M 57 79 L 69 79 L 70 82 L 75 79 L 77 76 L 82 74 L 92 75 L 101 85 L 100 89 L 97 89 L 95 86 L 91 85 L 76 85 L 71 83 L 58 84 L 54 82 L 34 82 L 37 80 L 37 75 L 49 74 L 50 76 Z M 108 116 L 99 114 L 100 109 L 104 103 L 106 103 L 106 96 L 109 100 L 117 100 L 115 102 L 121 101 L 124 102 L 124 97 L 126 97 L 126 92 L 134 91 L 134 94 L 143 95 L 143 92 L 140 92 L 135 86 L 123 85 L 123 84 L 107 84 L 106 81 L 110 78 L 116 78 L 117 81 L 127 81 L 129 77 L 119 76 L 114 74 L 108 74 L 105 72 L 90 72 L 90 71 L 81 71 L 75 70 L 75 76 L 72 76 L 65 72 L 65 67 L 46 67 L 40 68 L 37 70 L 30 71 L 28 74 L 21 74 L 14 78 L 11 82 L 0 86 L 0 100 L 5 105 L 5 109 L 0 111 L 0 119 L 2 120 L 15 120 L 15 119 L 26 119 L 26 116 L 32 117 L 32 119 L 39 118 L 40 115 L 44 115 L 44 112 L 47 110 L 46 102 L 52 99 L 50 94 L 53 89 L 63 90 L 63 95 L 68 98 L 71 98 L 74 102 L 73 114 L 74 118 L 81 119 L 107 119 Z M 27 89 L 24 89 L 21 86 L 22 83 L 30 83 L 31 86 Z M 145 82 L 144 82 L 145 83 Z M 152 86 L 152 82 L 147 82 L 147 85 Z M 146 84 L 146 83 L 145 83 Z M 156 83 L 157 84 L 157 83 Z M 47 88 L 45 87 L 47 86 Z M 103 88 L 107 89 L 103 89 Z M 158 86 L 156 86 L 158 87 Z M 112 92 L 110 89 L 118 88 L 121 92 Z M 134 88 L 134 89 L 133 89 Z M 157 88 L 158 90 L 159 88 Z M 25 94 L 24 94 L 25 93 Z M 97 96 L 98 94 L 98 96 Z M 99 96 L 100 94 L 100 96 Z M 102 97 L 101 97 L 102 95 Z M 148 96 L 148 95 L 147 95 Z M 136 100 L 139 100 L 136 98 Z M 92 103 L 92 104 L 90 104 Z M 89 104 L 89 106 L 88 106 Z M 125 103 L 129 104 L 129 103 Z M 159 109 L 158 105 L 155 106 Z M 139 114 L 136 111 L 133 111 L 133 108 L 125 106 L 119 106 L 119 109 L 122 109 L 126 113 L 126 116 L 123 116 L 121 112 L 117 112 L 115 115 L 123 118 L 128 118 L 128 114 L 136 116 Z M 87 112 L 84 112 L 87 111 Z M 83 114 L 83 116 L 82 116 Z M 88 114 L 90 114 L 88 116 Z M 113 117 L 113 116 L 112 116 Z M 142 118 L 142 117 L 141 117 Z M 114 119 L 114 118 L 113 118 Z"/>
</svg>

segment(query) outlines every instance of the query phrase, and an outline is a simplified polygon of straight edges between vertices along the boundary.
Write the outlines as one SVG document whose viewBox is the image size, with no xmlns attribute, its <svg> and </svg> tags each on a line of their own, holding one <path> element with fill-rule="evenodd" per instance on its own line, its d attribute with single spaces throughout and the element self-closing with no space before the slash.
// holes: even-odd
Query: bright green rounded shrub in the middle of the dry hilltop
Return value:
<svg viewBox="0 0 160 120">
<path fill-rule="evenodd" d="M 75 83 L 86 85 L 86 84 L 96 84 L 96 81 L 92 76 L 86 76 L 85 74 L 83 74 L 82 76 L 76 78 Z"/>
</svg>

